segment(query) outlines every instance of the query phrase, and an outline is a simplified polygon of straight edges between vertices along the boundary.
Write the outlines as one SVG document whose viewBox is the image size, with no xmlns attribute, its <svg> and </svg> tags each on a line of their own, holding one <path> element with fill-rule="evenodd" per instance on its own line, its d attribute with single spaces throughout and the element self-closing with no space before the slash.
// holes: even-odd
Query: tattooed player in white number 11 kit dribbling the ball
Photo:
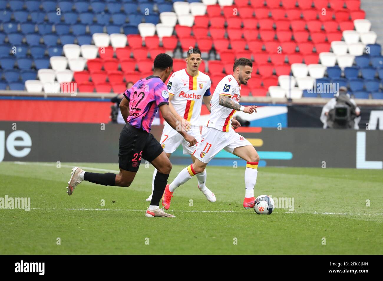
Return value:
<svg viewBox="0 0 383 281">
<path fill-rule="evenodd" d="M 253 63 L 247 58 L 239 58 L 234 62 L 233 74 L 225 76 L 217 85 L 211 99 L 210 119 L 202 128 L 202 139 L 192 155 L 196 158 L 193 164 L 183 169 L 173 182 L 165 187 L 162 206 L 168 210 L 173 192 L 177 187 L 187 182 L 194 175 L 205 171 L 206 165 L 222 149 L 244 159 L 245 170 L 245 199 L 246 209 L 254 207 L 254 186 L 257 181 L 259 156 L 254 146 L 243 136 L 234 131 L 241 124 L 233 120 L 236 110 L 252 114 L 257 112 L 257 106 L 241 106 L 241 84 L 246 85 L 251 78 Z M 232 128 L 233 126 L 233 128 Z"/>
</svg>

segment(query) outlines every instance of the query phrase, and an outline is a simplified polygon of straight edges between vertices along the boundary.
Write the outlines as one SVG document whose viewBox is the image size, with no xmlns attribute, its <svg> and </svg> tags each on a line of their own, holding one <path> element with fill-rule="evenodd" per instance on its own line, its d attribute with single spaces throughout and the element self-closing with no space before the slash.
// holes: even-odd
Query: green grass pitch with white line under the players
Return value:
<svg viewBox="0 0 383 281">
<path fill-rule="evenodd" d="M 146 218 L 152 166 L 142 163 L 131 187 L 83 182 L 68 196 L 73 165 L 118 170 L 0 163 L 0 197 L 31 198 L 30 211 L 0 209 L 0 254 L 383 254 L 382 171 L 260 167 L 255 196 L 294 198 L 295 210 L 257 215 L 242 207 L 244 167 L 208 166 L 215 203 L 191 179 L 172 198 L 176 218 Z"/>
</svg>

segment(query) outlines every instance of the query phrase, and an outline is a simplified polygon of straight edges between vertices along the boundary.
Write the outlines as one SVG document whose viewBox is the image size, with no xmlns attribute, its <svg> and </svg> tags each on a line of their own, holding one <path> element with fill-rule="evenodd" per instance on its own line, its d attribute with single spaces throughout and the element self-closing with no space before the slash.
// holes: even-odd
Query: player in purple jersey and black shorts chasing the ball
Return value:
<svg viewBox="0 0 383 281">
<path fill-rule="evenodd" d="M 196 143 L 196 139 L 186 132 L 188 123 L 178 123 L 170 112 L 169 93 L 164 82 L 169 77 L 172 69 L 172 58 L 167 54 L 159 54 L 154 59 L 153 75 L 138 80 L 136 84 L 125 91 L 125 98 L 119 105 L 126 122 L 119 138 L 119 174 L 91 173 L 85 172 L 79 167 L 74 167 L 68 182 L 68 195 L 72 195 L 74 188 L 83 180 L 95 184 L 128 187 L 133 182 L 138 171 L 141 158 L 144 158 L 158 170 L 154 179 L 152 200 L 145 216 L 175 217 L 159 208 L 160 199 L 167 185 L 172 164 L 160 143 L 149 133 L 154 115 L 160 109 L 165 121 L 180 133 L 190 143 L 190 146 Z"/>
</svg>

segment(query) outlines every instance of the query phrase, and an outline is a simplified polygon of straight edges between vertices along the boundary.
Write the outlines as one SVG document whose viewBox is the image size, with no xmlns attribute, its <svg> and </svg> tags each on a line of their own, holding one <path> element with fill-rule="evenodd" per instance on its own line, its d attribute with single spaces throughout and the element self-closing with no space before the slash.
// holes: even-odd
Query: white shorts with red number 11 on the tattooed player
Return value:
<svg viewBox="0 0 383 281">
<path fill-rule="evenodd" d="M 235 148 L 247 145 L 252 144 L 232 129 L 229 132 L 222 132 L 216 128 L 203 126 L 202 139 L 193 156 L 201 162 L 209 163 L 222 149 L 233 153 Z"/>
</svg>

